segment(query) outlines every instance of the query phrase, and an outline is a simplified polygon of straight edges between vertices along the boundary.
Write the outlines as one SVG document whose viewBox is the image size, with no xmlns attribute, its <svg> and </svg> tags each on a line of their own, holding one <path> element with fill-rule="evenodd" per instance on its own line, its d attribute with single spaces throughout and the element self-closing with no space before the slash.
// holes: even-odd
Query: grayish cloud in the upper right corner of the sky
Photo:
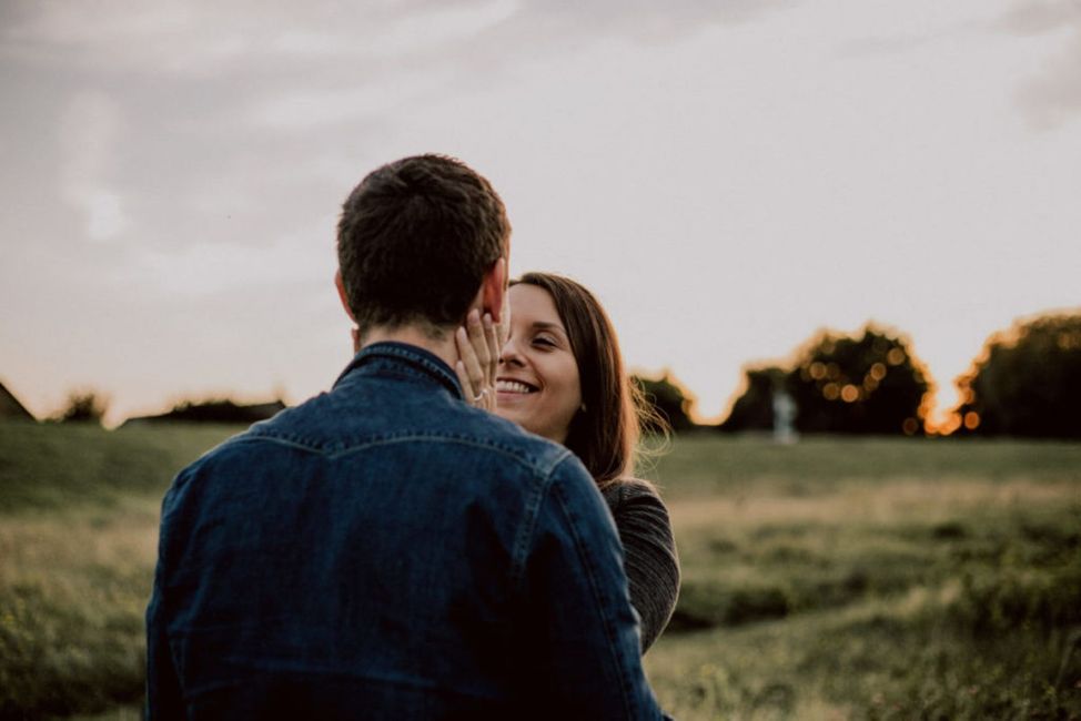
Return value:
<svg viewBox="0 0 1081 721">
<path fill-rule="evenodd" d="M 1017 35 L 1057 34 L 1065 40 L 1058 52 L 1017 90 L 1017 101 L 1035 128 L 1050 130 L 1081 112 L 1081 2 L 1021 2 L 996 27 Z"/>
</svg>

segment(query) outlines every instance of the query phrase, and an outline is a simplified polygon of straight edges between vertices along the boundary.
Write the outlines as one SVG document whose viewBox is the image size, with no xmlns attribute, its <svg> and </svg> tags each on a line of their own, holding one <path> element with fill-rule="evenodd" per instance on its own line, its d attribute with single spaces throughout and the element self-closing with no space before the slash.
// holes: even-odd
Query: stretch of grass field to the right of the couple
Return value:
<svg viewBox="0 0 1081 721">
<path fill-rule="evenodd" d="M 1081 718 L 1081 446 L 687 437 L 679 719 Z"/>
</svg>

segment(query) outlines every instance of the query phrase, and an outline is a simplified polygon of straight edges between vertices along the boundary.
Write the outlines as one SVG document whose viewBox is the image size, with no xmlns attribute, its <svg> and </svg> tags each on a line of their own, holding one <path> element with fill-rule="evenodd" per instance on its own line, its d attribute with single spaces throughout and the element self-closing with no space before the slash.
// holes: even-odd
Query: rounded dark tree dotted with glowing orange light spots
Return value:
<svg viewBox="0 0 1081 721">
<path fill-rule="evenodd" d="M 787 387 L 801 433 L 923 433 L 923 364 L 899 334 L 871 324 L 858 337 L 827 331 L 811 338 Z"/>
</svg>

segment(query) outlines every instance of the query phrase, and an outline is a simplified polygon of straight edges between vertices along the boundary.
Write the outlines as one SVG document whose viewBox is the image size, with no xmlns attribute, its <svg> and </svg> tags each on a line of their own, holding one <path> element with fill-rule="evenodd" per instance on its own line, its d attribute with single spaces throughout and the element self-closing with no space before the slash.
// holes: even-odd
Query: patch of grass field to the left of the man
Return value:
<svg viewBox="0 0 1081 721">
<path fill-rule="evenodd" d="M 161 496 L 235 430 L 0 425 L 0 719 L 139 703 Z"/>
</svg>

